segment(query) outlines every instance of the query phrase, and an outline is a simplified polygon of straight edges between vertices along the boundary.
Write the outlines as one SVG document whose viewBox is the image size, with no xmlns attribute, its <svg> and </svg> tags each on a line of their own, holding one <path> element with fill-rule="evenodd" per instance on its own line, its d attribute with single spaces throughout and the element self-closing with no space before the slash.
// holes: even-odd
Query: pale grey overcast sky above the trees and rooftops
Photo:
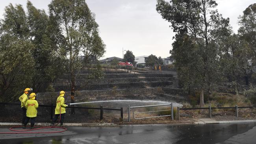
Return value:
<svg viewBox="0 0 256 144">
<path fill-rule="evenodd" d="M 38 9 L 48 12 L 51 0 L 30 0 Z M 9 3 L 22 4 L 26 0 L 1 0 L 0 18 L 4 7 Z M 122 48 L 130 50 L 136 56 L 170 56 L 172 37 L 175 35 L 170 23 L 156 12 L 156 0 L 86 0 L 89 8 L 96 14 L 100 36 L 106 44 L 106 57 L 122 58 Z M 224 18 L 230 18 L 230 24 L 237 33 L 237 17 L 255 0 L 216 0 L 217 9 Z M 125 53 L 125 52 L 124 52 Z M 102 59 L 103 59 L 102 58 Z"/>
</svg>

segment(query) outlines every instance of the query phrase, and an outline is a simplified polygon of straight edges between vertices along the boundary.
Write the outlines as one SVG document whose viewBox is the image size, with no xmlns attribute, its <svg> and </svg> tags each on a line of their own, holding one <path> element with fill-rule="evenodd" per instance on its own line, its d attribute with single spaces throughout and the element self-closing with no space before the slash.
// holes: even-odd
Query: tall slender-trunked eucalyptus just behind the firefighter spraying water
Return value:
<svg viewBox="0 0 256 144">
<path fill-rule="evenodd" d="M 86 65 L 90 57 L 101 57 L 105 44 L 99 36 L 95 14 L 91 13 L 85 0 L 52 0 L 48 7 L 50 17 L 65 38 L 63 50 L 71 79 L 71 103 L 74 103 L 76 71 Z"/>
</svg>

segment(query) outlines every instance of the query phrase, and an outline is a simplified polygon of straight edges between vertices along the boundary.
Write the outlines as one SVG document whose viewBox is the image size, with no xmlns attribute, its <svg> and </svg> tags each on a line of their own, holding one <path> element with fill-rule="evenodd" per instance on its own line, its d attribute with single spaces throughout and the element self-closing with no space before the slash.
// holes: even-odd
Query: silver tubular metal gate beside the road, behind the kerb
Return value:
<svg viewBox="0 0 256 144">
<path fill-rule="evenodd" d="M 170 115 L 163 115 L 163 116 L 150 116 L 150 117 L 144 117 L 144 118 L 135 118 L 134 114 L 140 114 L 140 113 L 154 113 L 154 112 L 160 112 L 160 111 L 145 111 L 145 112 L 138 112 L 138 113 L 134 113 L 134 109 L 136 108 L 141 108 L 141 107 L 159 107 L 159 106 L 164 106 L 164 105 L 170 105 L 171 109 L 169 110 L 161 110 L 161 111 L 171 111 Z M 130 105 L 128 105 L 128 122 L 130 122 L 130 109 L 132 109 L 132 117 L 135 120 L 139 120 L 139 119 L 145 119 L 145 118 L 157 118 L 157 117 L 164 117 L 164 116 L 171 116 L 171 120 L 173 120 L 173 103 L 170 104 L 162 104 L 162 105 L 143 105 L 143 106 L 136 106 L 136 107 L 130 107 Z"/>
</svg>

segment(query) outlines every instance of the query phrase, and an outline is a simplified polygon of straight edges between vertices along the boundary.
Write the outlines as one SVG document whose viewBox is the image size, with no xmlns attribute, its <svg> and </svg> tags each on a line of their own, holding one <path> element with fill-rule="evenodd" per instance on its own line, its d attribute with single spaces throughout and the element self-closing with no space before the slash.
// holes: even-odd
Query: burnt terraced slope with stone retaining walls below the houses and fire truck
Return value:
<svg viewBox="0 0 256 144">
<path fill-rule="evenodd" d="M 110 73 L 110 74 L 109 74 Z M 123 73 L 108 72 L 104 79 L 87 80 L 88 74 L 77 75 L 76 100 L 113 100 L 113 99 L 174 99 L 182 95 L 178 89 L 178 79 L 172 74 L 161 73 Z M 69 94 L 70 83 L 67 75 L 61 76 L 53 85 L 56 92 L 64 90 Z M 161 88 L 161 89 L 160 89 Z M 41 93 L 45 98 L 49 93 Z M 165 97 L 165 98 L 164 98 Z"/>
</svg>

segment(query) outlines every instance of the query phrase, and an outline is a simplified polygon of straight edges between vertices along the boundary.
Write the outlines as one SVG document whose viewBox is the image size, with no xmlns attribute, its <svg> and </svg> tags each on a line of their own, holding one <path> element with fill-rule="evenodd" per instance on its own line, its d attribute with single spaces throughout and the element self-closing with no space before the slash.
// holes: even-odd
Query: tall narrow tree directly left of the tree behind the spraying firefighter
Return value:
<svg viewBox="0 0 256 144">
<path fill-rule="evenodd" d="M 33 88 L 45 90 L 60 74 L 64 66 L 61 52 L 62 41 L 58 25 L 52 17 L 48 17 L 44 10 L 37 9 L 33 4 L 27 2 L 27 24 L 30 41 L 35 49 L 32 51 L 35 59 L 35 74 L 33 76 Z"/>
</svg>

